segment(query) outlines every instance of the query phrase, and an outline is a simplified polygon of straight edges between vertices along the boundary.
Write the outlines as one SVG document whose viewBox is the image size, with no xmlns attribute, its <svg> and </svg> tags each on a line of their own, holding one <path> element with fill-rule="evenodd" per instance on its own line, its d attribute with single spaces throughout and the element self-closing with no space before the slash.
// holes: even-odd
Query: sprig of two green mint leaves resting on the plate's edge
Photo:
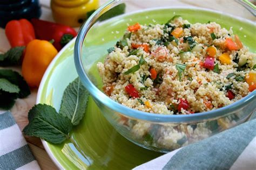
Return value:
<svg viewBox="0 0 256 170">
<path fill-rule="evenodd" d="M 88 97 L 89 93 L 80 80 L 75 79 L 64 91 L 59 114 L 50 105 L 35 105 L 29 111 L 29 124 L 24 128 L 24 134 L 43 138 L 53 144 L 63 143 L 66 139 L 73 143 L 69 132 L 83 118 Z"/>
</svg>

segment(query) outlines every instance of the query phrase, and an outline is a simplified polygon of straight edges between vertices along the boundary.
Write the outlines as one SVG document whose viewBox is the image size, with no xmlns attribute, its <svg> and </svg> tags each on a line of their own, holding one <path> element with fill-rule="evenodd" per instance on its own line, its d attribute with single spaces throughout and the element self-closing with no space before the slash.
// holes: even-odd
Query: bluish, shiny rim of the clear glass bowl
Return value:
<svg viewBox="0 0 256 170">
<path fill-rule="evenodd" d="M 239 110 L 244 105 L 247 105 L 252 100 L 256 99 L 256 90 L 252 91 L 249 95 L 245 96 L 241 100 L 234 102 L 226 107 L 219 108 L 216 110 L 200 112 L 196 114 L 190 115 L 161 115 L 161 114 L 152 114 L 149 112 L 135 110 L 125 105 L 122 105 L 118 102 L 111 100 L 110 97 L 106 96 L 102 91 L 100 91 L 89 79 L 87 76 L 83 63 L 82 63 L 82 47 L 83 42 L 86 37 L 86 34 L 89 32 L 90 28 L 93 24 L 95 24 L 97 18 L 99 18 L 105 11 L 111 9 L 113 6 L 119 4 L 120 0 L 111 0 L 104 5 L 100 6 L 90 17 L 87 21 L 83 24 L 78 32 L 78 36 L 75 42 L 74 48 L 74 60 L 77 69 L 77 73 L 80 77 L 80 80 L 86 87 L 86 89 L 90 92 L 93 98 L 96 98 L 100 101 L 103 105 L 106 105 L 108 108 L 112 109 L 113 111 L 117 111 L 120 114 L 123 114 L 127 117 L 140 119 L 143 121 L 150 121 L 150 122 L 171 122 L 171 123 L 188 123 L 188 122 L 200 122 L 205 121 L 205 119 L 215 119 L 218 117 L 226 116 L 236 110 Z M 175 7 L 175 6 L 174 6 Z M 203 8 L 198 8 L 203 9 Z M 206 10 L 206 9 L 203 9 Z M 214 10 L 211 10 L 214 11 Z M 218 11 L 215 11 L 218 12 Z M 254 110 L 255 111 L 255 110 Z"/>
</svg>

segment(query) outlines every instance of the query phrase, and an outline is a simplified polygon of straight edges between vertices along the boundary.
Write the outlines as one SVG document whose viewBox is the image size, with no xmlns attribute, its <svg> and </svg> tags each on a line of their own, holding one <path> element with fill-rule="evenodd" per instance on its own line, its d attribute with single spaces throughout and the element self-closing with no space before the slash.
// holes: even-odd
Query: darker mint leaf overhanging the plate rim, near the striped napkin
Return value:
<svg viewBox="0 0 256 170">
<path fill-rule="evenodd" d="M 53 144 L 60 144 L 69 139 L 72 123 L 50 105 L 35 105 L 29 111 L 28 118 L 29 124 L 23 129 L 24 134 L 43 138 Z"/>
</svg>

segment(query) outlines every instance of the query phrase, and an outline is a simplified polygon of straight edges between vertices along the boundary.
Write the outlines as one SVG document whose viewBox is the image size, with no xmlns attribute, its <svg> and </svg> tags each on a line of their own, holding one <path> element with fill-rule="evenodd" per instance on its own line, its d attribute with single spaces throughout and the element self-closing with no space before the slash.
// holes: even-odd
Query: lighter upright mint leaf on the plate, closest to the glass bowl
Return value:
<svg viewBox="0 0 256 170">
<path fill-rule="evenodd" d="M 65 89 L 59 114 L 68 117 L 73 125 L 78 125 L 84 116 L 89 93 L 79 78 Z"/>
</svg>

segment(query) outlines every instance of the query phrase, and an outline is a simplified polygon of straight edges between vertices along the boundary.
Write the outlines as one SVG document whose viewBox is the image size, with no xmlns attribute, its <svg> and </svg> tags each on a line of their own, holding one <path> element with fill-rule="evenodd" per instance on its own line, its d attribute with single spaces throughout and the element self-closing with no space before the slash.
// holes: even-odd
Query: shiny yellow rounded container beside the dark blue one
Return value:
<svg viewBox="0 0 256 170">
<path fill-rule="evenodd" d="M 55 21 L 73 27 L 80 26 L 87 19 L 86 13 L 96 10 L 98 6 L 99 0 L 51 0 Z"/>
</svg>

